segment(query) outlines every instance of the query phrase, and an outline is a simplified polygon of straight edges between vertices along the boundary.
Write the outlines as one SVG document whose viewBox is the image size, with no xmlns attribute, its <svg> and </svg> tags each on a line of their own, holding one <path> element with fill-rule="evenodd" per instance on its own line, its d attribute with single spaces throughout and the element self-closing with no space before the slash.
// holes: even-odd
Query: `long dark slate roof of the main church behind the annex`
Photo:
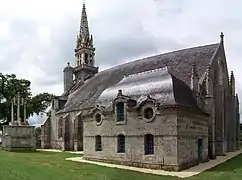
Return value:
<svg viewBox="0 0 242 180">
<path fill-rule="evenodd" d="M 58 112 L 86 108 L 95 104 L 101 93 L 120 82 L 125 75 L 168 67 L 169 72 L 190 86 L 192 63 L 195 60 L 198 76 L 210 65 L 220 43 L 193 47 L 125 63 L 97 73 L 68 97 L 65 106 Z"/>
</svg>

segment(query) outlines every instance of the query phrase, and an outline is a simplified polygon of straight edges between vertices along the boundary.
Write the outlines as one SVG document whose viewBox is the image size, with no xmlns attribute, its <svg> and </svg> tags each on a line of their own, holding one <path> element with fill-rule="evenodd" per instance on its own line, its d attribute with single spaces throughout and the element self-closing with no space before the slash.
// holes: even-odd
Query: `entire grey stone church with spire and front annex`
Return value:
<svg viewBox="0 0 242 180">
<path fill-rule="evenodd" d="M 42 148 L 180 171 L 239 149 L 239 98 L 220 42 L 99 71 L 83 4 L 75 66 L 42 125 Z"/>
</svg>

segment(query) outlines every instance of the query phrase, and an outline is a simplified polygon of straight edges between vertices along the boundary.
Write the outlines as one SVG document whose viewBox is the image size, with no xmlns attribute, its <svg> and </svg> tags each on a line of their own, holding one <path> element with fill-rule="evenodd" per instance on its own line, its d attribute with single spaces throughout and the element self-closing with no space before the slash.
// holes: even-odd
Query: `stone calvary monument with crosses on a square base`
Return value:
<svg viewBox="0 0 242 180">
<path fill-rule="evenodd" d="M 16 102 L 17 100 L 17 102 Z M 17 119 L 14 119 L 14 106 L 17 106 Z M 24 119 L 20 118 L 20 107 L 23 107 Z M 2 147 L 6 151 L 25 151 L 36 150 L 36 138 L 34 133 L 34 126 L 30 126 L 26 120 L 26 101 L 14 97 L 11 102 L 11 122 L 9 125 L 3 126 L 3 142 Z"/>
</svg>

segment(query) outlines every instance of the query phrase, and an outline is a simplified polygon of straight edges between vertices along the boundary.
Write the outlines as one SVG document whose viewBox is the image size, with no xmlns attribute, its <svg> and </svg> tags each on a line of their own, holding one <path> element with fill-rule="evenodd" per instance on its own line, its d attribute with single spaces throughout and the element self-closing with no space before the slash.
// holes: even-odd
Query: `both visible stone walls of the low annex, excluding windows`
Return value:
<svg viewBox="0 0 242 180">
<path fill-rule="evenodd" d="M 152 122 L 127 111 L 126 124 L 116 124 L 114 114 L 84 119 L 84 158 L 153 169 L 183 170 L 198 164 L 197 140 L 202 139 L 201 161 L 208 160 L 209 117 L 193 111 L 162 109 Z M 117 153 L 117 136 L 125 136 L 125 153 Z M 144 136 L 154 135 L 154 154 L 145 155 Z M 102 138 L 102 151 L 95 151 L 95 136 Z"/>
</svg>

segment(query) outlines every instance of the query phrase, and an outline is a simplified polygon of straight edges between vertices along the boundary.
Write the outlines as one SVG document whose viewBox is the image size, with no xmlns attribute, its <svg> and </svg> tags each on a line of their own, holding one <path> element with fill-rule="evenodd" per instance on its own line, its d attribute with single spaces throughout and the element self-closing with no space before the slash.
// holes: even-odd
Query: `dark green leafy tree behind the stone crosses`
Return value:
<svg viewBox="0 0 242 180">
<path fill-rule="evenodd" d="M 17 92 L 27 101 L 26 115 L 27 118 L 34 113 L 40 114 L 50 105 L 52 94 L 41 93 L 32 96 L 30 85 L 31 82 L 26 79 L 17 79 L 15 74 L 2 75 L 0 78 L 0 128 L 2 125 L 8 124 L 11 121 L 11 101 L 16 96 Z M 16 107 L 15 119 L 16 119 Z M 23 107 L 20 109 L 20 117 L 23 119 Z"/>
</svg>

